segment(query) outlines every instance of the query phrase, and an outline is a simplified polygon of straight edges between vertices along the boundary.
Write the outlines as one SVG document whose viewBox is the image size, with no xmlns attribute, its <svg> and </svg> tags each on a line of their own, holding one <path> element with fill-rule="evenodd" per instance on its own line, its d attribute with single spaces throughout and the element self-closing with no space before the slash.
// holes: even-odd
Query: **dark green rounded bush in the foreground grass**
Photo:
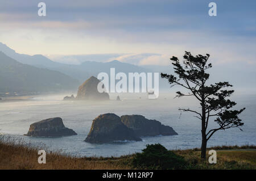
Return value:
<svg viewBox="0 0 256 181">
<path fill-rule="evenodd" d="M 182 169 L 186 165 L 183 157 L 160 144 L 147 145 L 135 154 L 132 163 L 137 169 Z"/>
</svg>

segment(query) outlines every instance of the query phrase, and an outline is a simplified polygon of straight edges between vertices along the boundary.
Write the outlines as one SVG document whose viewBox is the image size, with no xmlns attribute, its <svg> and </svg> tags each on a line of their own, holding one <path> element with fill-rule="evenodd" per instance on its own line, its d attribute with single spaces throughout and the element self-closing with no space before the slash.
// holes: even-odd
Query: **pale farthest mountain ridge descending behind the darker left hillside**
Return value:
<svg viewBox="0 0 256 181">
<path fill-rule="evenodd" d="M 22 64 L 36 66 L 37 68 L 47 68 L 49 70 L 60 71 L 61 73 L 69 75 L 72 78 L 78 79 L 80 83 L 84 82 L 92 75 L 97 77 L 98 73 L 109 73 L 110 68 L 115 68 L 117 73 L 152 72 L 150 69 L 119 62 L 117 60 L 110 62 L 85 61 L 81 65 L 61 64 L 59 62 L 54 62 L 41 54 L 30 56 L 27 54 L 16 53 L 15 50 L 2 43 L 0 43 L 0 51 Z"/>
</svg>

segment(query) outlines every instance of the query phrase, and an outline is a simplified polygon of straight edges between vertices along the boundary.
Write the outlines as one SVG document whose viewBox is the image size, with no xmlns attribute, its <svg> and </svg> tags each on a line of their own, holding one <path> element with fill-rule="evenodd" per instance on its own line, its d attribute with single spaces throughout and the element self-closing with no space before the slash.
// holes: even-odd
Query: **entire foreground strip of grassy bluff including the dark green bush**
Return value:
<svg viewBox="0 0 256 181">
<path fill-rule="evenodd" d="M 46 164 L 38 163 L 38 150 L 23 142 L 0 137 L 0 169 L 256 169 L 256 146 L 218 146 L 217 163 L 200 158 L 200 149 L 168 151 L 147 145 L 142 153 L 122 157 L 71 157 L 47 151 Z"/>
</svg>

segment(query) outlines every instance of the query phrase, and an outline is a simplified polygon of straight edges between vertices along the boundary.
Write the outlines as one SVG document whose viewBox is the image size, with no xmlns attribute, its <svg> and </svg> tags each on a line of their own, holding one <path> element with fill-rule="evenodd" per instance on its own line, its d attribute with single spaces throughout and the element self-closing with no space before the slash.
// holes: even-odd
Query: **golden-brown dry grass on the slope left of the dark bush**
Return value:
<svg viewBox="0 0 256 181">
<path fill-rule="evenodd" d="M 0 169 L 130 169 L 128 157 L 76 158 L 47 151 L 46 164 L 38 163 L 38 150 L 22 142 L 0 139 Z M 47 150 L 47 149 L 45 149 Z"/>
</svg>

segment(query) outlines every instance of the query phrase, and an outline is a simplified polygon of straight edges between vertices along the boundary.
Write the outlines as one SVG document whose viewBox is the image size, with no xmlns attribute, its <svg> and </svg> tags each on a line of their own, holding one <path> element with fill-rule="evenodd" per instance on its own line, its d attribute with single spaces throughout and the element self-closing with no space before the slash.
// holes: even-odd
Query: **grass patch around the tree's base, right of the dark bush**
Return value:
<svg viewBox="0 0 256 181">
<path fill-rule="evenodd" d="M 216 146 L 208 150 L 217 151 L 217 163 L 210 164 L 208 159 L 200 158 L 200 149 L 176 150 L 188 162 L 187 169 L 256 169 L 256 146 Z"/>
</svg>

